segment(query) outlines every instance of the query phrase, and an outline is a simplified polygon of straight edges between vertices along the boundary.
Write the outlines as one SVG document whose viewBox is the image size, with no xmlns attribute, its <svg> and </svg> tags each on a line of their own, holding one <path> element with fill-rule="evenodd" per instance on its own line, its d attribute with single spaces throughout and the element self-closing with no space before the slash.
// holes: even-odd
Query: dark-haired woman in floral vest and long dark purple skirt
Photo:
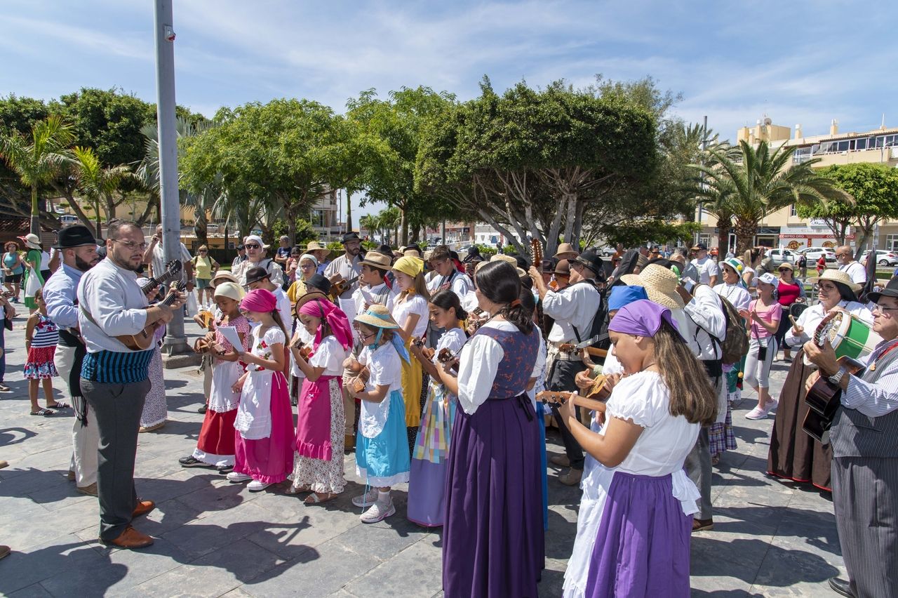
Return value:
<svg viewBox="0 0 898 598">
<path fill-rule="evenodd" d="M 446 598 L 536 598 L 544 561 L 540 436 L 526 386 L 539 332 L 521 305 L 513 266 L 490 262 L 474 276 L 489 321 L 462 349 L 449 447 L 443 532 Z"/>
</svg>

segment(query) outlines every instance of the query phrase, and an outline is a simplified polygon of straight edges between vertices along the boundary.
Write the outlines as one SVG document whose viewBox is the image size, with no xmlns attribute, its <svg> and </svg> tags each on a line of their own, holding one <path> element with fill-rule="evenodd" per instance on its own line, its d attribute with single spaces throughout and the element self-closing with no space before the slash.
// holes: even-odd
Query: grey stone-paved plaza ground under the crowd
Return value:
<svg viewBox="0 0 898 598">
<path fill-rule="evenodd" d="M 20 311 L 24 308 L 20 305 Z M 29 415 L 22 381 L 24 319 L 6 333 L 0 394 L 0 594 L 14 596 L 436 596 L 441 595 L 441 537 L 405 518 L 405 486 L 394 490 L 397 514 L 374 525 L 358 519 L 350 498 L 363 485 L 346 459 L 348 487 L 337 500 L 304 506 L 284 488 L 251 494 L 224 476 L 182 469 L 202 416 L 202 380 L 193 369 L 166 371 L 168 424 L 140 436 L 136 484 L 157 503 L 136 527 L 152 534 L 146 550 L 110 550 L 97 542 L 96 499 L 66 480 L 71 410 Z M 189 325 L 189 332 L 198 329 Z M 191 341 L 192 342 L 192 341 Z M 786 364 L 774 365 L 779 392 Z M 57 398 L 62 400 L 62 381 Z M 753 393 L 734 414 L 739 448 L 714 478 L 712 532 L 692 536 L 692 595 L 834 596 L 826 579 L 844 575 L 832 502 L 813 488 L 764 475 L 772 418 L 750 421 Z M 41 399 L 41 404 L 43 400 Z M 550 432 L 550 451 L 560 453 Z M 579 490 L 550 470 L 550 530 L 540 595 L 559 596 L 577 529 Z"/>
</svg>

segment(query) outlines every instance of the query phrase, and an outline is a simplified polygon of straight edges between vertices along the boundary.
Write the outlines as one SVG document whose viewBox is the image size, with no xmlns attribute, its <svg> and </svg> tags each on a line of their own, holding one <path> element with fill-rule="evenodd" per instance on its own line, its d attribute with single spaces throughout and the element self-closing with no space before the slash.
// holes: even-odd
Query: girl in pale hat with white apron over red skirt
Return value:
<svg viewBox="0 0 898 598">
<path fill-rule="evenodd" d="M 233 390 L 233 385 L 242 376 L 243 365 L 240 363 L 239 352 L 233 351 L 231 343 L 219 327 L 232 327 L 242 342 L 240 352 L 250 350 L 250 322 L 240 312 L 243 295 L 243 287 L 234 282 L 224 282 L 215 287 L 215 302 L 221 317 L 215 322 L 215 331 L 211 332 L 212 342 L 198 339 L 194 346 L 198 353 L 216 355 L 211 365 L 209 404 L 206 417 L 203 418 L 203 427 L 199 430 L 197 448 L 193 450 L 193 454 L 178 460 L 181 467 L 211 467 L 223 473 L 233 468 L 233 422 L 237 418 L 237 406 L 240 404 L 240 393 Z"/>
</svg>

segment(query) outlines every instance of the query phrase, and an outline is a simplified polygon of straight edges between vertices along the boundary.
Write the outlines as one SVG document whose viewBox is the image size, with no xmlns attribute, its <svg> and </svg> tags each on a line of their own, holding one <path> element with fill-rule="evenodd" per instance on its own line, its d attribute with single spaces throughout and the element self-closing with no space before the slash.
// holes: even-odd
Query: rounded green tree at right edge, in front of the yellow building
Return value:
<svg viewBox="0 0 898 598">
<path fill-rule="evenodd" d="M 886 218 L 898 218 L 898 171 L 886 164 L 833 164 L 818 171 L 833 181 L 849 197 L 835 198 L 822 204 L 796 206 L 803 218 L 822 218 L 840 244 L 845 243 L 848 227 L 860 233 L 855 258 L 873 237 L 873 230 Z"/>
</svg>

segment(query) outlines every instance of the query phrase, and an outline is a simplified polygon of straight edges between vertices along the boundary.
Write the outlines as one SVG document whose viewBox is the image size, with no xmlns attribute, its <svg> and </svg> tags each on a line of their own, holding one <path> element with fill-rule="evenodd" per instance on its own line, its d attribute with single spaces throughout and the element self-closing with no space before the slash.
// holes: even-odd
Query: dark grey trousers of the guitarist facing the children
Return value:
<svg viewBox="0 0 898 598">
<path fill-rule="evenodd" d="M 81 391 L 100 431 L 97 467 L 100 538 L 115 540 L 131 523 L 131 514 L 137 506 L 134 488 L 137 428 L 150 381 L 110 384 L 82 378 Z"/>
</svg>

